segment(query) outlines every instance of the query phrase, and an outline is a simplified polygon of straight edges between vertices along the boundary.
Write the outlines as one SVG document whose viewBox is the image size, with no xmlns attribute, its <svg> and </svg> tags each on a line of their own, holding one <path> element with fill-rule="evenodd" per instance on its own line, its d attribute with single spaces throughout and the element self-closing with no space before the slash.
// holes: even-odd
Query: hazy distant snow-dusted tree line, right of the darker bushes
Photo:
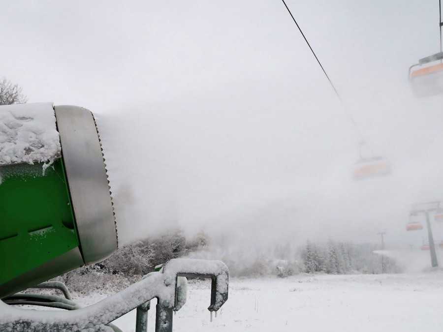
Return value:
<svg viewBox="0 0 443 332">
<path fill-rule="evenodd" d="M 375 244 L 341 241 L 313 242 L 305 244 L 277 243 L 264 246 L 209 245 L 189 254 L 202 259 L 220 259 L 229 268 L 229 274 L 238 277 L 276 275 L 285 277 L 300 273 L 382 273 L 380 249 Z M 401 272 L 397 263 L 384 257 L 384 272 Z"/>
</svg>

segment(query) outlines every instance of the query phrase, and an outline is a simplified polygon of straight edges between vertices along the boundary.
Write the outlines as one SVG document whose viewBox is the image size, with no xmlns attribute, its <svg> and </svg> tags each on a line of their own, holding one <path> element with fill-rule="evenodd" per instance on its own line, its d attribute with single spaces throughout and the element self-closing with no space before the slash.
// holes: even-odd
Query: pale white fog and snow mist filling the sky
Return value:
<svg viewBox="0 0 443 332">
<path fill-rule="evenodd" d="M 357 129 L 281 1 L 8 3 L 1 75 L 96 114 L 122 243 L 175 225 L 400 245 L 411 204 L 443 197 L 443 99 L 407 79 L 438 51 L 438 7 L 387 2 L 287 2 L 392 163 L 378 179 L 352 180 Z"/>
</svg>

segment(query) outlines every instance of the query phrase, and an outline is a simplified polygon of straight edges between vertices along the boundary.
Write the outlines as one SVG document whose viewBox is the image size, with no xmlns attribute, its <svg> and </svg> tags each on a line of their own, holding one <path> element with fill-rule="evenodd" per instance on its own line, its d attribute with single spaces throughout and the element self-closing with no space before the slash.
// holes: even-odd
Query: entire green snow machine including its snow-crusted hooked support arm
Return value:
<svg viewBox="0 0 443 332">
<path fill-rule="evenodd" d="M 172 332 L 186 302 L 187 278 L 210 278 L 211 313 L 228 297 L 220 261 L 172 259 L 127 289 L 81 308 L 60 281 L 117 249 L 117 228 L 93 114 L 52 103 L 0 106 L 0 331 L 121 331 L 114 320 L 136 308 L 147 332 L 157 299 L 156 332 Z M 64 297 L 20 293 L 51 288 Z M 19 292 L 19 293 L 17 293 Z M 17 304 L 63 310 L 29 310 Z"/>
</svg>

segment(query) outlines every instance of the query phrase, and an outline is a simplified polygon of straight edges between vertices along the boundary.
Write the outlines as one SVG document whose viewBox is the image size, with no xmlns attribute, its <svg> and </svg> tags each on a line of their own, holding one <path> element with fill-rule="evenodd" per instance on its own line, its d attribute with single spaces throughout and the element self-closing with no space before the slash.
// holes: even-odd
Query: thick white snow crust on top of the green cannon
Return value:
<svg viewBox="0 0 443 332">
<path fill-rule="evenodd" d="M 0 106 L 0 165 L 49 164 L 61 151 L 52 103 Z"/>
</svg>

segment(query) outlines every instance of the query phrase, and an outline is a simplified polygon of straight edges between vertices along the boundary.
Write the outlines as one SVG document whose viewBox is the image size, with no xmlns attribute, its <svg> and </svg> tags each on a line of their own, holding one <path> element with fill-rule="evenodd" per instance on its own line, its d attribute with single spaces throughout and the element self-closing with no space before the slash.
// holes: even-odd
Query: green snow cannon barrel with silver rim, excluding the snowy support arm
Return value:
<svg viewBox="0 0 443 332">
<path fill-rule="evenodd" d="M 105 167 L 87 109 L 0 107 L 0 298 L 117 249 Z"/>
</svg>

